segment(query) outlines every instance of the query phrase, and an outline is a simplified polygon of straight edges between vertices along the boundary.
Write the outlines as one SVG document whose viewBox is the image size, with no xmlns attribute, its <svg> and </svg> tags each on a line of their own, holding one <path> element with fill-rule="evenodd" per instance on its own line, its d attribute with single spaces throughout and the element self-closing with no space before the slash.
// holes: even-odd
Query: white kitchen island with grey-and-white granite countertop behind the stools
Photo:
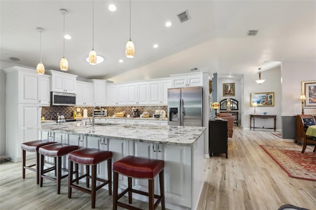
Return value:
<svg viewBox="0 0 316 210">
<path fill-rule="evenodd" d="M 41 131 L 42 139 L 76 144 L 113 152 L 113 162 L 127 155 L 165 161 L 164 186 L 166 208 L 195 210 L 204 182 L 205 127 L 111 124 L 85 125 L 84 122 L 42 124 L 25 127 Z M 64 160 L 67 167 L 68 162 Z M 80 170 L 84 170 L 81 168 Z M 104 163 L 98 166 L 98 176 L 106 178 Z M 119 176 L 120 190 L 126 188 L 127 178 Z M 158 184 L 155 180 L 155 191 Z M 133 180 L 133 188 L 147 191 L 148 181 Z M 133 194 L 133 197 L 147 198 Z"/>
</svg>

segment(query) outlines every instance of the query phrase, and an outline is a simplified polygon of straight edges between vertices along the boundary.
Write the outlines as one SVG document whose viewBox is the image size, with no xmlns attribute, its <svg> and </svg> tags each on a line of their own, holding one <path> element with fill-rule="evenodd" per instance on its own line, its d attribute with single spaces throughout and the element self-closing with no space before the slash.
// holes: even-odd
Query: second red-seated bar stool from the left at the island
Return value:
<svg viewBox="0 0 316 210">
<path fill-rule="evenodd" d="M 40 153 L 40 187 L 43 186 L 43 178 L 48 178 L 52 181 L 55 181 L 57 183 L 57 194 L 60 194 L 60 181 L 62 178 L 65 178 L 68 176 L 61 174 L 62 169 L 61 168 L 61 158 L 64 155 L 67 155 L 69 152 L 72 152 L 74 150 L 77 150 L 79 147 L 76 145 L 69 145 L 64 143 L 54 143 L 49 144 L 46 146 L 42 146 L 39 149 Z M 55 158 L 55 166 L 52 167 L 50 170 L 44 170 L 44 156 L 47 157 L 54 157 Z M 55 170 L 55 177 L 51 177 L 48 175 L 45 175 L 47 172 Z M 68 171 L 68 170 L 67 170 Z M 76 177 L 78 177 L 78 168 L 76 167 Z"/>
</svg>

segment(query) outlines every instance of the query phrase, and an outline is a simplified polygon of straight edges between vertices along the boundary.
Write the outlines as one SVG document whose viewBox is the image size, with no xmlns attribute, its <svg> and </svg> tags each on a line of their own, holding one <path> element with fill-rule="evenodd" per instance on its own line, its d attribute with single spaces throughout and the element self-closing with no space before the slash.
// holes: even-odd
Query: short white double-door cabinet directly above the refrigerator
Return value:
<svg viewBox="0 0 316 210">
<path fill-rule="evenodd" d="M 198 87 L 203 86 L 202 73 L 174 74 L 171 75 L 173 87 Z"/>
</svg>

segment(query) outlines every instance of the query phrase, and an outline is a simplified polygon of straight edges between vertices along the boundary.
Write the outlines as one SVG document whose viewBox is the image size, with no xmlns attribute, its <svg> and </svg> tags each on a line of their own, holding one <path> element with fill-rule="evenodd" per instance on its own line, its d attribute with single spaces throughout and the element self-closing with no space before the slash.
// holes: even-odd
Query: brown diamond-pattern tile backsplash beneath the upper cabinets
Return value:
<svg viewBox="0 0 316 210">
<path fill-rule="evenodd" d="M 65 116 L 65 119 L 70 119 L 72 117 L 73 111 L 80 108 L 80 113 L 83 115 L 83 109 L 88 110 L 88 117 L 92 116 L 92 106 L 42 106 L 41 116 L 46 120 L 57 120 L 57 113 L 61 113 Z M 102 108 L 108 110 L 108 116 L 114 115 L 116 112 L 125 111 L 125 116 L 130 114 L 132 116 L 132 108 L 138 108 L 139 113 L 142 114 L 145 110 L 152 116 L 157 109 L 165 110 L 167 113 L 166 105 L 158 106 L 102 106 Z"/>
</svg>

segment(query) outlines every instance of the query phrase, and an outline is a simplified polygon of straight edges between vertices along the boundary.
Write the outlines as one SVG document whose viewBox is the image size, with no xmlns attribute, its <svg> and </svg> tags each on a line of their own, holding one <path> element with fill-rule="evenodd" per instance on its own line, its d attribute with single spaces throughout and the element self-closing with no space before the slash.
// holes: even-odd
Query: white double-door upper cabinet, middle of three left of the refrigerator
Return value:
<svg viewBox="0 0 316 210">
<path fill-rule="evenodd" d="M 148 82 L 127 84 L 127 105 L 147 105 L 148 96 Z"/>
</svg>

